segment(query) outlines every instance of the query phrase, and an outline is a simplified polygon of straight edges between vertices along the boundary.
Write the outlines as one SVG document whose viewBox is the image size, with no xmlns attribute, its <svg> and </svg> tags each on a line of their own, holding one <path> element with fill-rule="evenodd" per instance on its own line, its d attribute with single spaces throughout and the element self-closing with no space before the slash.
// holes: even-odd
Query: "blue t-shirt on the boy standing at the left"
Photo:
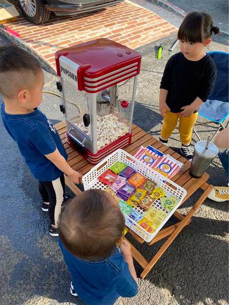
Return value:
<svg viewBox="0 0 229 305">
<path fill-rule="evenodd" d="M 58 148 L 67 160 L 67 153 L 61 138 L 47 117 L 37 108 L 28 114 L 8 114 L 1 105 L 3 124 L 10 136 L 17 142 L 21 155 L 35 178 L 52 181 L 63 172 L 44 155 Z"/>
</svg>

